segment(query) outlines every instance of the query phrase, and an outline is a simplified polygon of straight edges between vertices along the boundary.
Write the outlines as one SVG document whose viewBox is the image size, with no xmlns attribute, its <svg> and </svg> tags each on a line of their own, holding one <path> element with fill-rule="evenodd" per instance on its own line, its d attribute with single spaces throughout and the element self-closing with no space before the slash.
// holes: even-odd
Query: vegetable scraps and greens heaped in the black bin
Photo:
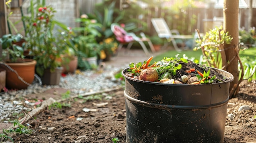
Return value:
<svg viewBox="0 0 256 143">
<path fill-rule="evenodd" d="M 210 69 L 204 73 L 200 73 L 195 67 L 183 70 L 184 75 L 180 75 L 179 79 L 175 79 L 175 75 L 182 73 L 182 64 L 188 63 L 187 59 L 175 57 L 164 57 L 161 61 L 150 64 L 153 57 L 150 57 L 142 64 L 130 63 L 126 76 L 133 79 L 143 81 L 159 82 L 163 84 L 211 84 L 216 76 L 210 77 Z M 202 71 L 202 70 L 201 70 Z"/>
</svg>

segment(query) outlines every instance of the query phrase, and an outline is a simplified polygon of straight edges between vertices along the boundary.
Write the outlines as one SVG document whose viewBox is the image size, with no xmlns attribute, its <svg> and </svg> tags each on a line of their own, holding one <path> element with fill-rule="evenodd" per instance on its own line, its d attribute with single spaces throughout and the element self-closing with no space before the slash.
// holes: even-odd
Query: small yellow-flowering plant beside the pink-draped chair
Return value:
<svg viewBox="0 0 256 143">
<path fill-rule="evenodd" d="M 106 57 L 106 54 L 112 55 L 115 54 L 117 51 L 118 44 L 117 42 L 115 42 L 114 38 L 109 37 L 107 39 L 104 39 L 99 44 L 101 46 L 101 59 L 104 59 L 104 57 Z"/>
</svg>

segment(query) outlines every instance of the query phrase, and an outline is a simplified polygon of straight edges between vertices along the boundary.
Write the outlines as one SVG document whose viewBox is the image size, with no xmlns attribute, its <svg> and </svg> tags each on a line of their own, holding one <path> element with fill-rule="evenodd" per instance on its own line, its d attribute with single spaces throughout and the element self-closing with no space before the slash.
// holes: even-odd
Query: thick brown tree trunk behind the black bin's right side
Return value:
<svg viewBox="0 0 256 143">
<path fill-rule="evenodd" d="M 239 71 L 238 71 L 238 11 L 239 0 L 224 0 L 223 16 L 224 23 L 223 28 L 225 32 L 229 32 L 229 35 L 233 37 L 231 44 L 225 44 L 225 55 L 227 60 L 227 72 L 234 76 L 234 81 L 230 83 L 229 97 L 235 97 L 238 94 L 239 86 Z"/>
</svg>

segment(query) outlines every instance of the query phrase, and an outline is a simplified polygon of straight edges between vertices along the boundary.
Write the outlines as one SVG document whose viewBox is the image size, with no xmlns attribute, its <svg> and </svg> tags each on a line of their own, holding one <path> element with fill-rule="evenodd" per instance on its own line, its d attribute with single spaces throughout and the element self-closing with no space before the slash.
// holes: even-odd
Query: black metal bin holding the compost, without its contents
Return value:
<svg viewBox="0 0 256 143">
<path fill-rule="evenodd" d="M 123 70 L 123 75 L 128 68 Z M 229 81 L 162 84 L 125 77 L 127 143 L 222 143 Z"/>
</svg>

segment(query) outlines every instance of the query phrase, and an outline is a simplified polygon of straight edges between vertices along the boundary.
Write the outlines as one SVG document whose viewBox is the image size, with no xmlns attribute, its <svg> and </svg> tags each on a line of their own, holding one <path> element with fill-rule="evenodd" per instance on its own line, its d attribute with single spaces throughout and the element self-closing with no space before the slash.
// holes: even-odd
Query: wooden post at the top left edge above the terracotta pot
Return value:
<svg viewBox="0 0 256 143">
<path fill-rule="evenodd" d="M 7 34 L 7 9 L 5 0 L 0 0 L 0 37 Z"/>
</svg>

